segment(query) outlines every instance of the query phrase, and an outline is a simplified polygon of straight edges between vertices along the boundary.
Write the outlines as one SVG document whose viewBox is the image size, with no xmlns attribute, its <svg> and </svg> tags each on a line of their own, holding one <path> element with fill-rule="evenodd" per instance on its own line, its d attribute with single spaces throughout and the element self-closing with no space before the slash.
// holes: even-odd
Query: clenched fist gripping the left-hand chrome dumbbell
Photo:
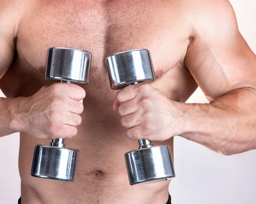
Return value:
<svg viewBox="0 0 256 204">
<path fill-rule="evenodd" d="M 71 138 L 81 124 L 85 91 L 79 85 L 55 83 L 25 98 L 23 130 L 40 139 Z"/>
</svg>

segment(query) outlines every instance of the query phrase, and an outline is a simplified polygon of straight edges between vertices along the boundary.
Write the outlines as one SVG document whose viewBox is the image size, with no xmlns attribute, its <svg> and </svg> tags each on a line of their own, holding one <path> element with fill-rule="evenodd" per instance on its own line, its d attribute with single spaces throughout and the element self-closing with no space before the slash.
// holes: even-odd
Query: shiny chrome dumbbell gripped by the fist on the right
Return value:
<svg viewBox="0 0 256 204">
<path fill-rule="evenodd" d="M 146 49 L 113 54 L 105 59 L 110 85 L 119 90 L 128 85 L 154 82 L 154 69 Z M 156 146 L 150 140 L 140 139 L 140 147 L 125 153 L 128 178 L 131 185 L 165 181 L 175 177 L 170 146 Z"/>
</svg>

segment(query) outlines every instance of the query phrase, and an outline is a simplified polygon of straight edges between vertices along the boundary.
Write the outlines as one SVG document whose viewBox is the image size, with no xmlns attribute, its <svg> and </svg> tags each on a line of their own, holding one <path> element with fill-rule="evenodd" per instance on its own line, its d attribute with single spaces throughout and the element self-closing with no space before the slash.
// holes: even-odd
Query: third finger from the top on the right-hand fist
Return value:
<svg viewBox="0 0 256 204">
<path fill-rule="evenodd" d="M 121 118 L 121 125 L 125 128 L 132 128 L 137 125 L 140 125 L 143 122 L 143 117 L 140 111 L 129 114 Z"/>
</svg>

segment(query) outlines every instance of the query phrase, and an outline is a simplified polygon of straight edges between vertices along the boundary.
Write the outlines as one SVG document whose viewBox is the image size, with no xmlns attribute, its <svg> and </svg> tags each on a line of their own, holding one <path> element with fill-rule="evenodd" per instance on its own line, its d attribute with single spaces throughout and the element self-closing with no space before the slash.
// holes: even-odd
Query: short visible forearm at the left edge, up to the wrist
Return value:
<svg viewBox="0 0 256 204">
<path fill-rule="evenodd" d="M 0 137 L 23 130 L 20 112 L 24 106 L 24 97 L 0 98 Z"/>
</svg>

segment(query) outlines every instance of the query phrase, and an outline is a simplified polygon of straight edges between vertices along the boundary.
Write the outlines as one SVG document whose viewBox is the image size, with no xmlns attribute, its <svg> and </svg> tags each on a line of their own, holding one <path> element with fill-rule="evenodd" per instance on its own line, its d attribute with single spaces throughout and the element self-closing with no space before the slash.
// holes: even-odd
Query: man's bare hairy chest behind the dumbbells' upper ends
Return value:
<svg viewBox="0 0 256 204">
<path fill-rule="evenodd" d="M 26 7 L 17 32 L 13 80 L 26 78 L 26 81 L 41 82 L 38 88 L 44 85 L 43 73 L 50 47 L 78 48 L 92 53 L 87 93 L 90 89 L 92 93 L 110 89 L 105 58 L 120 51 L 146 48 L 151 52 L 157 78 L 167 72 L 180 76 L 173 68 L 185 57 L 188 30 L 182 11 L 172 5 L 172 0 L 105 3 L 38 0 L 32 5 L 27 3 Z M 15 79 L 15 73 L 19 79 Z M 8 77 L 8 73 L 6 75 Z"/>
</svg>

